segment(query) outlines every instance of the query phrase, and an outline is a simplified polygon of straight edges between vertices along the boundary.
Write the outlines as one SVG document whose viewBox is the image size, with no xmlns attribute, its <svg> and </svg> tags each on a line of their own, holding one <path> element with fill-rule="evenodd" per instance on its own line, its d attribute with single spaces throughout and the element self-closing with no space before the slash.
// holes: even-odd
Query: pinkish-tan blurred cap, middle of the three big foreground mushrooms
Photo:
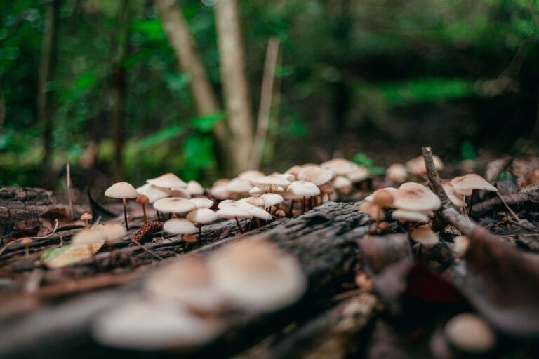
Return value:
<svg viewBox="0 0 539 359">
<path fill-rule="evenodd" d="M 215 312 L 222 297 L 215 290 L 206 261 L 194 255 L 176 259 L 150 276 L 145 289 L 154 297 L 183 304 L 189 309 Z"/>
</svg>

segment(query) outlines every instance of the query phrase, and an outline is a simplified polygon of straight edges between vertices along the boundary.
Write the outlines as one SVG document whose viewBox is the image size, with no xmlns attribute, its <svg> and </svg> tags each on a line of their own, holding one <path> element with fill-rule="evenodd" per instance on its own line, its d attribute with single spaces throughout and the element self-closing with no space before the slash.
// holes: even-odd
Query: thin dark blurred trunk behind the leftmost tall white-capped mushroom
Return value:
<svg viewBox="0 0 539 359">
<path fill-rule="evenodd" d="M 122 0 L 118 13 L 117 34 L 111 41 L 116 50 L 113 52 L 111 72 L 111 109 L 110 124 L 112 126 L 112 140 L 114 142 L 114 155 L 112 158 L 111 174 L 115 181 L 123 177 L 121 154 L 124 149 L 124 100 L 125 100 L 125 70 L 122 64 L 126 59 L 129 46 L 129 20 L 131 2 Z"/>
</svg>

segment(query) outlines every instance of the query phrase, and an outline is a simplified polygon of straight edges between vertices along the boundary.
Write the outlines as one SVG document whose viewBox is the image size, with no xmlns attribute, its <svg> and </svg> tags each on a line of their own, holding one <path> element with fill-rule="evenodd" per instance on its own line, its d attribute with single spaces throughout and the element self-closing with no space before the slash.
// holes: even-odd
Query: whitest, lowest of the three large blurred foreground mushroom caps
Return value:
<svg viewBox="0 0 539 359">
<path fill-rule="evenodd" d="M 155 299 L 121 303 L 102 313 L 91 329 L 93 338 L 105 346 L 147 351 L 200 346 L 222 330 L 218 320 Z"/>
</svg>

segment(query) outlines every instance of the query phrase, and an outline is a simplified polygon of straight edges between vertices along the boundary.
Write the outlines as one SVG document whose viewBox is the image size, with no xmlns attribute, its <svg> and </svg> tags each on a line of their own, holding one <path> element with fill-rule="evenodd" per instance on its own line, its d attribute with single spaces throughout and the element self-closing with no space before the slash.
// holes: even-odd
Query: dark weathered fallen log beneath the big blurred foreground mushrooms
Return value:
<svg viewBox="0 0 539 359">
<path fill-rule="evenodd" d="M 226 223 L 228 222 L 220 226 Z M 349 244 L 366 233 L 366 223 L 366 217 L 357 211 L 357 203 L 330 202 L 298 218 L 280 219 L 244 235 L 259 233 L 260 236 L 279 245 L 281 249 L 295 255 L 309 281 L 307 293 L 300 303 L 279 313 L 265 316 L 244 314 L 227 319 L 230 320 L 229 327 L 232 329 L 228 330 L 224 337 L 196 353 L 183 355 L 195 358 L 227 357 L 245 351 L 260 339 L 282 330 L 291 323 L 306 323 L 322 310 L 321 303 L 326 303 L 328 297 L 343 291 L 342 283 L 352 282 L 353 269 L 357 264 L 357 247 Z M 206 231 L 211 229 L 211 226 L 208 226 Z M 193 252 L 206 256 L 215 248 L 242 237 L 224 238 Z M 154 243 L 151 248 L 159 250 L 160 255 L 177 256 L 176 242 L 177 238 L 173 237 L 171 243 L 175 245 L 159 242 Z M 148 247 L 150 248 L 150 245 Z M 151 255 L 135 247 L 122 250 L 144 260 L 153 261 Z M 137 357 L 140 353 L 99 346 L 91 339 L 89 325 L 98 313 L 102 313 L 115 303 L 124 302 L 140 294 L 140 290 L 140 280 L 135 279 L 126 285 L 115 287 L 114 290 L 90 292 L 61 301 L 51 302 L 50 297 L 47 301 L 37 301 L 38 304 L 35 307 L 31 306 L 33 309 L 25 313 L 0 319 L 0 357 L 39 355 L 66 358 L 80 353 L 84 353 L 86 357 L 98 355 Z M 26 294 L 24 297 L 34 298 L 32 294 Z M 21 297 L 18 300 L 21 301 Z M 141 356 L 145 355 L 147 353 Z M 178 353 L 176 356 L 179 356 Z"/>
</svg>

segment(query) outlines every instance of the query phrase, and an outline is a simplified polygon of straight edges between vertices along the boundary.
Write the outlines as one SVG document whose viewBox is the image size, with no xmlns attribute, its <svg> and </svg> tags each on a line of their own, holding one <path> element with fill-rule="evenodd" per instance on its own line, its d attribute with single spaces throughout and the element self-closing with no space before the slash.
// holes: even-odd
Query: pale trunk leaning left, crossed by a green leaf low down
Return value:
<svg viewBox="0 0 539 359">
<path fill-rule="evenodd" d="M 183 72 L 191 75 L 189 88 L 199 115 L 213 114 L 220 110 L 213 88 L 194 46 L 194 40 L 182 11 L 174 0 L 155 0 L 155 6 L 164 31 L 168 36 L 175 56 Z M 225 123 L 213 126 L 213 135 L 218 149 L 218 163 L 227 175 L 235 175 L 242 168 L 234 146 L 233 133 Z"/>
</svg>

